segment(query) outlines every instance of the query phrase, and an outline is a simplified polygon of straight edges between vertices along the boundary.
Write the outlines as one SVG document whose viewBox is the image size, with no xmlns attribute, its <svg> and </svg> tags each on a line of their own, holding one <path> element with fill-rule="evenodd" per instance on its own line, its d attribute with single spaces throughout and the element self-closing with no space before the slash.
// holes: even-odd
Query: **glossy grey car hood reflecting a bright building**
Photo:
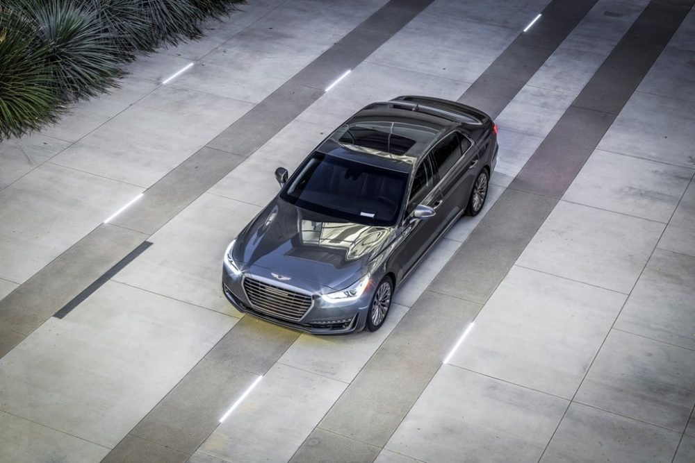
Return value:
<svg viewBox="0 0 695 463">
<path fill-rule="evenodd" d="M 234 259 L 251 273 L 270 271 L 307 289 L 339 290 L 368 271 L 392 230 L 318 214 L 276 197 L 240 233 Z"/>
</svg>

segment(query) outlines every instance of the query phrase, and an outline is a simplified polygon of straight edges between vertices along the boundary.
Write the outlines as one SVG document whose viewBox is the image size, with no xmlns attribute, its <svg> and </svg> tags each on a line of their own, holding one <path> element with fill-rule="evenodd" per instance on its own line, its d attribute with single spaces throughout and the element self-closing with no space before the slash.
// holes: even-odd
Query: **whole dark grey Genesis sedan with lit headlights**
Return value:
<svg viewBox="0 0 695 463">
<path fill-rule="evenodd" d="M 384 325 L 394 292 L 485 203 L 497 127 L 455 101 L 371 103 L 323 140 L 231 241 L 222 290 L 245 314 L 315 335 Z"/>
</svg>

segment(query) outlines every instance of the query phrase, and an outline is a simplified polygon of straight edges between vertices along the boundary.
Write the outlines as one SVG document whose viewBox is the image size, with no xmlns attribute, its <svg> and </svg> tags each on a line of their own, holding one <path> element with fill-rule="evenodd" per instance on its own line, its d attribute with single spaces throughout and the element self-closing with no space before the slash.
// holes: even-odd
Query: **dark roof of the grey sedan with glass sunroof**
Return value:
<svg viewBox="0 0 695 463">
<path fill-rule="evenodd" d="M 452 101 L 400 96 L 370 103 L 317 149 L 354 162 L 410 171 L 430 147 L 455 128 L 480 128 L 483 112 Z"/>
</svg>

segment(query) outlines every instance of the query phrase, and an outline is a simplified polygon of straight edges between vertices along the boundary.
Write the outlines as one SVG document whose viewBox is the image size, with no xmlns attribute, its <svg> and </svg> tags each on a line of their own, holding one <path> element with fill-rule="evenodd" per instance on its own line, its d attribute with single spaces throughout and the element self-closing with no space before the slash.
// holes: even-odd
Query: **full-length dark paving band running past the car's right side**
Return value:
<svg viewBox="0 0 695 463">
<path fill-rule="evenodd" d="M 673 3 L 652 1 L 575 103 L 587 105 L 594 101 L 591 92 L 603 87 L 603 79 L 609 80 L 610 85 L 625 82 L 628 90 L 634 91 L 633 83 L 641 81 L 651 65 L 635 67 L 619 63 L 628 62 L 630 53 L 639 49 L 637 44 L 645 41 L 651 45 L 641 51 L 646 56 L 639 58 L 639 62 L 653 63 L 692 3 L 692 0 L 681 1 L 680 8 L 674 8 Z M 553 129 L 554 137 L 559 139 L 564 135 L 565 143 L 577 143 L 571 148 L 573 156 L 569 160 L 562 157 L 571 163 L 572 169 L 581 168 L 583 161 L 575 162 L 574 158 L 586 160 L 610 126 L 614 115 L 603 116 L 606 113 L 601 109 L 604 108 L 599 106 L 596 110 L 573 105 Z M 620 109 L 612 107 L 615 112 Z M 584 123 L 584 126 L 575 126 L 578 123 Z M 586 135 L 586 140 L 573 137 L 578 131 Z M 542 155 L 540 153 L 542 151 L 539 151 Z M 529 182 L 553 178 L 554 169 L 562 164 L 535 162 L 534 156 L 530 162 L 537 171 L 526 174 Z M 570 173 L 566 178 L 572 169 L 568 169 Z M 555 186 L 556 192 L 562 185 L 565 183 Z M 318 462 L 322 455 L 332 455 L 334 460 L 341 461 L 349 457 L 352 448 L 364 444 L 383 447 L 441 367 L 445 351 L 455 344 L 466 324 L 475 318 L 558 201 L 555 197 L 531 192 L 505 190 L 429 289 L 345 389 L 318 428 L 304 441 L 293 461 Z M 455 310 L 452 310 L 452 305 Z M 427 342 L 420 345 L 420 339 Z M 344 453 L 327 453 L 329 441 L 322 440 L 321 431 L 332 432 L 332 437 L 343 436 L 340 448 L 345 449 Z M 360 441 L 359 444 L 353 444 L 356 440 Z"/>
</svg>

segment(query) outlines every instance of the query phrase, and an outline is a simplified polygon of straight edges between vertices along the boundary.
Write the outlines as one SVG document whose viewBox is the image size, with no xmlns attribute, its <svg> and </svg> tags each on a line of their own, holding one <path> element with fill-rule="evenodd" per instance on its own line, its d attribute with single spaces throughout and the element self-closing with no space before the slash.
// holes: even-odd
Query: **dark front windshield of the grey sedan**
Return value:
<svg viewBox="0 0 695 463">
<path fill-rule="evenodd" d="M 357 224 L 390 226 L 398 219 L 407 174 L 314 153 L 280 197 Z"/>
</svg>

